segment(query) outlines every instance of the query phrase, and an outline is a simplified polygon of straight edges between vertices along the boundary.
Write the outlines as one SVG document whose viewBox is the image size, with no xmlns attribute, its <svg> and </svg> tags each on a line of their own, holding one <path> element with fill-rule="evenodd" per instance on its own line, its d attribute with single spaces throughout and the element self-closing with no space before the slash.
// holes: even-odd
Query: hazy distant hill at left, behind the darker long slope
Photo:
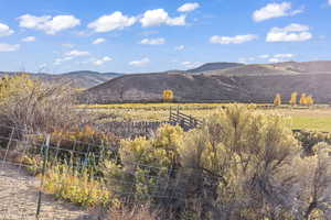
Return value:
<svg viewBox="0 0 331 220">
<path fill-rule="evenodd" d="M 9 74 L 18 74 L 18 73 L 4 73 L 0 72 L 0 76 Z M 115 77 L 121 76 L 122 74 L 116 73 L 98 73 L 98 72 L 89 72 L 89 70 L 79 70 L 79 72 L 70 72 L 64 74 L 33 74 L 28 73 L 32 77 L 51 81 L 51 82 L 70 82 L 74 88 L 90 88 L 108 81 Z"/>
</svg>

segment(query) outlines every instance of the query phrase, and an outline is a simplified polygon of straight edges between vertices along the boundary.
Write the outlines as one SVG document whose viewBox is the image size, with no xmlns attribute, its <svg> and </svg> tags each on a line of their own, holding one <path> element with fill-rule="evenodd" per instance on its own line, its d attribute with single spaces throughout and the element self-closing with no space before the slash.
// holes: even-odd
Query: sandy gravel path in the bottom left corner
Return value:
<svg viewBox="0 0 331 220">
<path fill-rule="evenodd" d="M 0 160 L 0 220 L 35 220 L 40 180 Z M 42 196 L 40 220 L 93 220 L 83 209 Z"/>
</svg>

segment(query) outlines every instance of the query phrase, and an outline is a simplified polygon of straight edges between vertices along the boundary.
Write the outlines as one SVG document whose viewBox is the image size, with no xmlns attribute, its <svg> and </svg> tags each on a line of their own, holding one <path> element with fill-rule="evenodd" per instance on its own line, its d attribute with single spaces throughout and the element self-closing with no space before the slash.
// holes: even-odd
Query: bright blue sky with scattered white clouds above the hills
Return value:
<svg viewBox="0 0 331 220">
<path fill-rule="evenodd" d="M 0 0 L 0 70 L 331 59 L 331 0 Z"/>
</svg>

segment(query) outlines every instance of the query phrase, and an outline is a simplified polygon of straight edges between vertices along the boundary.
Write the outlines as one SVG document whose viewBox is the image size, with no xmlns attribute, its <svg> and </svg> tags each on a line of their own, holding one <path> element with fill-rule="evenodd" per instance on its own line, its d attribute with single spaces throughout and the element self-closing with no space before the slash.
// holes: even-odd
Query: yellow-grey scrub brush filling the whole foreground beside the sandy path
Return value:
<svg viewBox="0 0 331 220">
<path fill-rule="evenodd" d="M 331 136 L 293 134 L 281 111 L 296 110 L 183 105 L 204 119 L 202 127 L 184 132 L 164 124 L 151 138 L 119 140 L 86 125 L 93 117 L 77 111 L 68 87 L 7 77 L 0 96 L 1 125 L 9 128 L 1 136 L 10 136 L 10 128 L 21 131 L 15 135 L 28 143 L 32 170 L 40 170 L 38 147 L 51 136 L 46 173 L 35 172 L 42 189 L 99 208 L 105 219 L 331 218 Z M 166 112 L 170 106 L 132 109 Z"/>
</svg>

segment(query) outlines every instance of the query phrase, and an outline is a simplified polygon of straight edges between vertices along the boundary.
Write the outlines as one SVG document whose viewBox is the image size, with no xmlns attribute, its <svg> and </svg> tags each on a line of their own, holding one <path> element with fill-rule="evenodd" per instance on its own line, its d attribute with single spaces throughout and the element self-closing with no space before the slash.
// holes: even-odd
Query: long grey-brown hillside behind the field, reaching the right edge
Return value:
<svg viewBox="0 0 331 220">
<path fill-rule="evenodd" d="M 171 89 L 182 102 L 270 102 L 297 91 L 331 103 L 331 62 L 244 65 L 196 74 L 171 72 L 124 75 L 83 92 L 94 103 L 161 101 Z"/>
</svg>

